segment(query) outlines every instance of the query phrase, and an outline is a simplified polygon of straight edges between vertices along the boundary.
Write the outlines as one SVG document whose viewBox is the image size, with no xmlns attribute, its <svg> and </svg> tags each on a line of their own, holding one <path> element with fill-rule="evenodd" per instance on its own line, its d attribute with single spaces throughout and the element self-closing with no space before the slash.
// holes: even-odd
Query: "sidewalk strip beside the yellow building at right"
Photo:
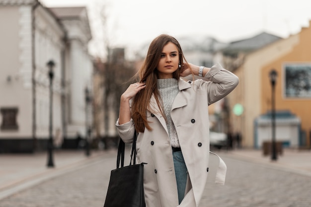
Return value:
<svg viewBox="0 0 311 207">
<path fill-rule="evenodd" d="M 264 156 L 259 149 L 234 149 L 223 151 L 226 157 L 263 164 L 293 173 L 311 176 L 311 150 L 283 149 L 283 155 L 277 156 L 276 161 L 271 160 L 271 155 Z"/>
</svg>

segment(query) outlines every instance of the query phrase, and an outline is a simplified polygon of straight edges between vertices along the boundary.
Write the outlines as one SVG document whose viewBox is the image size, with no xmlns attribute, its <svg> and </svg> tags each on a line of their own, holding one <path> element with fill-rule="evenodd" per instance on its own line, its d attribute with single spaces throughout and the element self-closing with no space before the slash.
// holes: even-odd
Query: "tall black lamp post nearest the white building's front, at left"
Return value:
<svg viewBox="0 0 311 207">
<path fill-rule="evenodd" d="M 47 63 L 49 68 L 49 79 L 50 79 L 50 116 L 49 116 L 49 140 L 48 140 L 48 167 L 54 167 L 53 162 L 53 78 L 54 78 L 54 66 L 55 63 L 53 60 L 50 60 Z"/>
</svg>

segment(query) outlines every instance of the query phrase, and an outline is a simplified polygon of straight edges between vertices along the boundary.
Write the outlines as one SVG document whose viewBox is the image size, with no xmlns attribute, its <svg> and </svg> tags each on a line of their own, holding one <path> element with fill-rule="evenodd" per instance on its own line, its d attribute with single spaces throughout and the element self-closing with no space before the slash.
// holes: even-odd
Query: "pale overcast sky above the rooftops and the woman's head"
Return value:
<svg viewBox="0 0 311 207">
<path fill-rule="evenodd" d="M 311 0 L 40 0 L 48 7 L 86 6 L 89 52 L 124 47 L 128 58 L 159 34 L 209 36 L 229 43 L 261 32 L 287 38 L 309 27 Z M 100 12 L 106 15 L 103 27 Z M 106 28 L 106 29 L 104 29 Z"/>
</svg>

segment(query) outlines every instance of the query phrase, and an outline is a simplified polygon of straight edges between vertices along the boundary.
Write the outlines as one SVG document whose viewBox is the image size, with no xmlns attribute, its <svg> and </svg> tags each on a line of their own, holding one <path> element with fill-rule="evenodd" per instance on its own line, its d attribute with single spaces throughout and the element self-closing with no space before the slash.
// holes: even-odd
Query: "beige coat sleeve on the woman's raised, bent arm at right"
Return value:
<svg viewBox="0 0 311 207">
<path fill-rule="evenodd" d="M 209 81 L 204 81 L 205 83 L 202 83 L 203 80 L 200 81 L 207 87 L 209 105 L 228 95 L 239 82 L 235 74 L 223 69 L 220 64 L 213 66 L 204 77 Z"/>
</svg>

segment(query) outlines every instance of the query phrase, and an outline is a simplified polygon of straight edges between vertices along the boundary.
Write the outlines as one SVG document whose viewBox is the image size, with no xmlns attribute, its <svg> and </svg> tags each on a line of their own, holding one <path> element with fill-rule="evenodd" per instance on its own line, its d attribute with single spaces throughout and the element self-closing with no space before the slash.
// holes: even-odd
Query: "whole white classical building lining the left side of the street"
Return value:
<svg viewBox="0 0 311 207">
<path fill-rule="evenodd" d="M 84 88 L 91 85 L 92 72 L 86 9 L 72 8 L 76 18 L 68 21 L 57 10 L 38 0 L 0 0 L 0 28 L 5 31 L 0 33 L 0 152 L 46 147 L 49 61 L 55 63 L 54 141 L 61 144 L 63 137 L 85 134 Z"/>
</svg>

